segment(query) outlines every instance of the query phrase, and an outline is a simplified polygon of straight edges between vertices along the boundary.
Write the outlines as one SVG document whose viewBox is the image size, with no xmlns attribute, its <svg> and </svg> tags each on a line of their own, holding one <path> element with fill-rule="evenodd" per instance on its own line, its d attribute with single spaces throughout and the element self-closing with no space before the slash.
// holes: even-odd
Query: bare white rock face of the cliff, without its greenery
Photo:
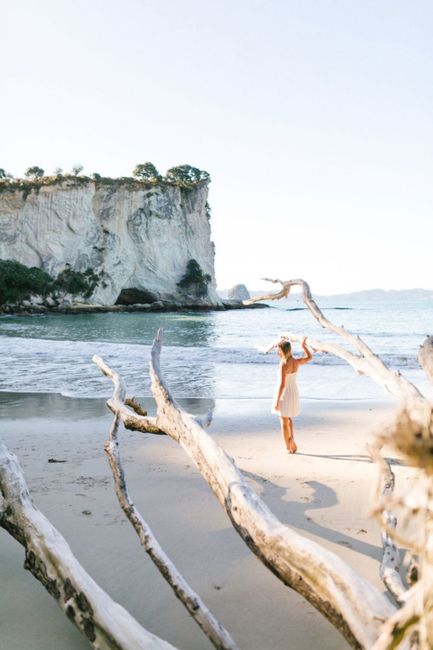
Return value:
<svg viewBox="0 0 433 650">
<path fill-rule="evenodd" d="M 135 302 L 191 302 L 177 282 L 196 259 L 212 278 L 206 302 L 220 304 L 207 195 L 205 183 L 181 189 L 63 182 L 26 198 L 22 191 L 3 192 L 0 258 L 53 276 L 67 264 L 74 271 L 91 268 L 101 280 L 89 302 L 103 305 L 121 292 Z"/>
</svg>

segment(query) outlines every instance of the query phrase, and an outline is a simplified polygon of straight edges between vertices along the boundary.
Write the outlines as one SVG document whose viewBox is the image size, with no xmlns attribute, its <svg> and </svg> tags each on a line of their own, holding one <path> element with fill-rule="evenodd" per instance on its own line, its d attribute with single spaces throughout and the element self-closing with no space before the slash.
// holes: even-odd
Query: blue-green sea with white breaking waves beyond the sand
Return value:
<svg viewBox="0 0 433 650">
<path fill-rule="evenodd" d="M 111 382 L 92 363 L 97 354 L 121 373 L 128 394 L 148 397 L 151 344 L 162 328 L 162 371 L 175 397 L 270 402 L 278 359 L 275 352 L 261 354 L 257 346 L 287 331 L 341 343 L 318 325 L 299 297 L 271 304 L 256 310 L 4 316 L 0 390 L 108 397 Z M 390 368 L 433 394 L 417 361 L 419 346 L 433 332 L 431 302 L 342 303 L 333 298 L 320 304 L 329 320 L 362 337 Z M 302 355 L 300 346 L 295 344 L 294 353 Z M 370 378 L 320 353 L 300 369 L 298 385 L 305 399 L 387 397 Z"/>
</svg>

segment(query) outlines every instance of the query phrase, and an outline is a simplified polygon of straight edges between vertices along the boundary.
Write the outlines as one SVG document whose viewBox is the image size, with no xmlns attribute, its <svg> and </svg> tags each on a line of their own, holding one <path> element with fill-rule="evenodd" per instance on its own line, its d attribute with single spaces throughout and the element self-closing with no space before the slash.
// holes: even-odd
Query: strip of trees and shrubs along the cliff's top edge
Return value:
<svg viewBox="0 0 433 650">
<path fill-rule="evenodd" d="M 151 162 L 140 163 L 135 166 L 132 176 L 121 176 L 119 178 L 110 178 L 93 173 L 90 176 L 82 174 L 83 166 L 74 165 L 71 172 L 63 172 L 57 167 L 53 174 L 45 175 L 45 171 L 38 165 L 32 165 L 25 172 L 25 178 L 14 178 L 4 169 L 0 168 L 0 193 L 8 191 L 22 191 L 23 198 L 33 190 L 39 192 L 41 187 L 51 185 L 67 186 L 85 186 L 95 183 L 97 186 L 122 186 L 130 189 L 140 189 L 143 187 L 175 186 L 185 190 L 191 190 L 195 187 L 210 182 L 208 172 L 192 167 L 191 165 L 179 165 L 171 167 L 164 175 L 160 174 L 155 165 Z"/>
</svg>

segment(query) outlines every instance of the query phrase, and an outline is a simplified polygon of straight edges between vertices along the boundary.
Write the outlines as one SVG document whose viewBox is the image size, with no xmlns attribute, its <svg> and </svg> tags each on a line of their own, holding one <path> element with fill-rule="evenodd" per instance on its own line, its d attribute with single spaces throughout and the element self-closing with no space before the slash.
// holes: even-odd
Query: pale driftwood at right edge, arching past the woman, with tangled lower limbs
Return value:
<svg viewBox="0 0 433 650">
<path fill-rule="evenodd" d="M 352 335 L 344 327 L 331 323 L 321 312 L 312 298 L 310 288 L 304 280 L 270 280 L 281 284 L 281 290 L 253 298 L 247 303 L 258 300 L 278 300 L 287 297 L 293 286 L 302 290 L 303 300 L 319 324 L 347 343 L 351 344 L 356 354 L 342 350 L 341 346 L 322 344 L 309 339 L 309 344 L 317 350 L 333 352 L 345 359 L 358 372 L 368 375 L 393 394 L 403 405 L 392 426 L 383 433 L 378 441 L 379 447 L 390 443 L 402 452 L 411 464 L 421 470 L 419 484 L 414 490 L 399 500 L 393 497 L 393 479 L 388 474 L 388 484 L 382 495 L 382 504 L 378 511 L 382 517 L 384 559 L 382 575 L 392 592 L 406 601 L 402 609 L 389 619 L 384 627 L 377 648 L 394 648 L 411 635 L 411 647 L 433 647 L 433 409 L 432 404 L 422 395 L 418 388 L 401 375 L 394 372 L 375 355 L 358 336 Z M 421 347 L 419 361 L 427 376 L 433 378 L 433 337 L 428 337 Z M 415 500 L 415 504 L 413 501 Z M 423 503 L 426 502 L 426 503 Z M 396 519 L 392 507 L 401 506 L 403 518 L 407 521 L 420 510 L 423 521 L 420 527 L 422 540 L 405 540 L 396 532 Z M 412 554 L 421 558 L 421 578 L 410 590 L 403 592 L 397 574 L 397 549 L 394 541 L 402 542 Z M 420 596 L 421 594 L 421 596 Z"/>
</svg>

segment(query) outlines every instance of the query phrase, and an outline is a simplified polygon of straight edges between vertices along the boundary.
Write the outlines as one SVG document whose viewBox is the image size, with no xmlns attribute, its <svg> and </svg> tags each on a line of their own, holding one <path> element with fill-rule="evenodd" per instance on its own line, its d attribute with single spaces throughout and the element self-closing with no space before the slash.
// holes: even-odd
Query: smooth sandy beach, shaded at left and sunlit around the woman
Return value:
<svg viewBox="0 0 433 650">
<path fill-rule="evenodd" d="M 189 410 L 203 409 L 191 401 Z M 209 432 L 285 523 L 344 558 L 380 589 L 378 525 L 369 517 L 376 469 L 365 445 L 392 401 L 304 400 L 299 453 L 283 453 L 266 400 L 218 400 Z M 103 400 L 0 395 L 1 438 L 24 468 L 36 505 L 86 570 L 146 628 L 182 650 L 210 648 L 173 596 L 117 503 L 103 451 Z M 191 461 L 166 437 L 122 431 L 131 496 L 162 546 L 240 648 L 347 647 L 334 628 L 250 553 Z M 49 458 L 64 463 L 48 463 Z M 397 483 L 412 470 L 395 460 Z M 87 512 L 88 514 L 84 514 Z M 89 514 L 90 513 L 90 514 Z M 86 640 L 24 571 L 23 549 L 0 530 L 2 650 L 80 650 Z"/>
</svg>

